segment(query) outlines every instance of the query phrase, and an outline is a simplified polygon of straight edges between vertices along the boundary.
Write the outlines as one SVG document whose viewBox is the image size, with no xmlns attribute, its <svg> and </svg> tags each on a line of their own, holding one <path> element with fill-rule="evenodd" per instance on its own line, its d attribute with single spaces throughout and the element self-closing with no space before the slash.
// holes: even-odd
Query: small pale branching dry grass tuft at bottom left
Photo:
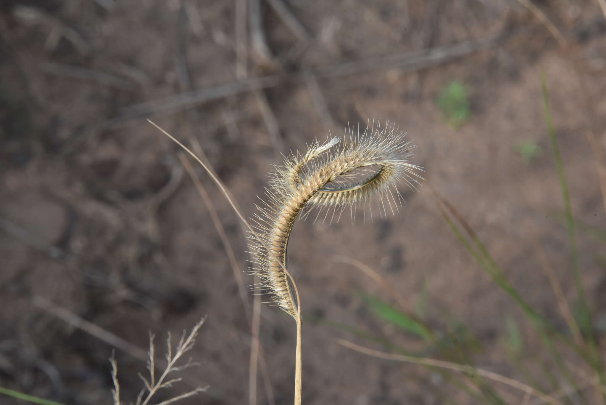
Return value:
<svg viewBox="0 0 606 405">
<path fill-rule="evenodd" d="M 147 360 L 147 370 L 149 371 L 150 376 L 149 376 L 149 378 L 145 378 L 144 376 L 139 374 L 139 377 L 141 377 L 141 379 L 143 380 L 145 387 L 144 387 L 144 389 L 141 390 L 141 392 L 139 392 L 139 395 L 137 396 L 137 399 L 135 401 L 135 405 L 148 405 L 150 403 L 151 398 L 155 395 L 156 392 L 158 392 L 158 390 L 160 390 L 162 388 L 171 387 L 174 383 L 178 383 L 179 381 L 181 381 L 181 377 L 168 379 L 169 374 L 185 370 L 191 366 L 198 365 L 197 363 L 192 363 L 191 358 L 188 359 L 188 361 L 182 366 L 176 366 L 176 362 L 185 353 L 187 353 L 189 350 L 191 350 L 191 348 L 193 347 L 193 345 L 196 342 L 196 336 L 198 336 L 198 331 L 199 331 L 200 327 L 202 326 L 202 324 L 204 324 L 205 320 L 206 320 L 206 317 L 200 319 L 200 321 L 191 329 L 191 332 L 187 336 L 187 338 L 185 338 L 185 330 L 183 331 L 183 335 L 181 336 L 181 339 L 179 340 L 179 344 L 175 348 L 174 353 L 173 353 L 173 347 L 171 344 L 171 335 L 170 335 L 170 332 L 168 332 L 168 338 L 167 338 L 167 342 L 166 342 L 167 366 L 166 366 L 166 369 L 164 370 L 164 372 L 162 372 L 162 375 L 159 376 L 159 378 L 157 378 L 157 379 L 156 379 L 156 366 L 155 366 L 156 347 L 153 342 L 154 335 L 150 334 L 150 350 L 148 352 L 148 360 Z M 112 391 L 114 405 L 122 405 L 122 403 L 120 401 L 120 384 L 118 382 L 118 364 L 116 363 L 116 360 L 113 358 L 113 356 L 112 356 L 112 358 L 110 358 L 110 362 L 112 363 L 112 380 L 113 380 L 113 384 L 114 384 L 114 389 Z M 207 388 L 208 387 L 204 387 L 204 388 L 198 387 L 195 390 L 191 390 L 189 392 L 182 393 L 181 395 L 170 398 L 170 400 L 162 401 L 161 403 L 158 403 L 156 405 L 168 405 L 168 404 L 171 404 L 178 400 L 182 400 L 183 398 L 187 398 L 188 396 L 196 395 L 198 392 L 205 391 Z M 145 395 L 146 392 L 147 392 L 147 395 Z M 145 396 L 145 398 L 144 398 L 144 396 Z"/>
</svg>

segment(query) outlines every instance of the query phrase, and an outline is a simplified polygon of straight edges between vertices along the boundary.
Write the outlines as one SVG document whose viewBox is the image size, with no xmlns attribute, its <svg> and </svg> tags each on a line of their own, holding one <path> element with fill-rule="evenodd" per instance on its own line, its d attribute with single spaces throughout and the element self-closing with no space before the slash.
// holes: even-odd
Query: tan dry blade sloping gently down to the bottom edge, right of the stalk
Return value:
<svg viewBox="0 0 606 405">
<path fill-rule="evenodd" d="M 529 395 L 533 395 L 537 398 L 540 398 L 541 400 L 543 400 L 547 403 L 550 403 L 552 405 L 564 405 L 561 401 L 556 400 L 556 398 L 546 395 L 546 394 L 534 389 L 533 387 L 528 386 L 527 384 L 521 383 L 520 381 L 517 381 L 515 379 L 505 377 L 501 374 L 493 373 L 488 370 L 476 369 L 476 367 L 465 366 L 464 364 L 456 364 L 453 362 L 443 361 L 443 360 L 419 358 L 419 357 L 413 357 L 413 356 L 395 355 L 395 354 L 391 354 L 391 353 L 379 352 L 378 350 L 368 349 L 367 347 L 357 345 L 355 343 L 352 343 L 352 342 L 344 340 L 344 339 L 337 339 L 336 342 L 347 347 L 348 349 L 356 350 L 356 352 L 364 353 L 365 355 L 374 356 L 374 357 L 378 357 L 378 358 L 382 358 L 382 359 L 410 362 L 410 363 L 414 363 L 414 364 L 421 364 L 422 366 L 440 367 L 441 369 L 448 369 L 448 370 L 453 370 L 453 371 L 457 371 L 457 372 L 461 372 L 461 373 L 467 373 L 467 374 L 471 374 L 471 375 L 476 375 L 476 374 L 481 375 L 481 376 L 484 376 L 485 378 L 492 379 L 493 381 L 497 381 L 497 382 L 505 384 L 507 386 L 522 390 L 522 391 L 528 393 Z"/>
</svg>

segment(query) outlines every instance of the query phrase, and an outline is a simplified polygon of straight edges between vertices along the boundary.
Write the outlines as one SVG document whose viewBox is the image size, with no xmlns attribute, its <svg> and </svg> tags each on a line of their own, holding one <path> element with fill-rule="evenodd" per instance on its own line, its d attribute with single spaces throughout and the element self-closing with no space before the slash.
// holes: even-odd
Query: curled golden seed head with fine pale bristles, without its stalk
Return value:
<svg viewBox="0 0 606 405">
<path fill-rule="evenodd" d="M 373 126 L 374 127 L 374 126 Z M 362 134 L 352 134 L 333 150 L 340 140 L 332 138 L 326 143 L 314 141 L 305 155 L 293 154 L 283 166 L 275 166 L 270 175 L 271 189 L 266 189 L 267 202 L 258 206 L 255 214 L 258 239 L 250 237 L 251 270 L 262 279 L 258 287 L 269 290 L 273 301 L 295 317 L 297 305 L 285 273 L 288 237 L 296 218 L 304 208 L 350 208 L 370 197 L 377 197 L 383 213 L 400 205 L 401 196 L 396 189 L 404 181 L 415 188 L 416 174 L 421 169 L 410 163 L 413 146 L 404 141 L 405 134 L 393 124 L 384 129 L 367 128 Z M 347 135 L 347 132 L 346 134 Z M 370 170 L 375 167 L 376 170 Z M 356 171 L 357 170 L 357 177 Z M 367 172 L 360 179 L 359 172 Z M 381 208 L 380 208 L 381 209 Z M 353 218 L 353 217 L 352 217 Z M 260 240 L 259 240 L 260 239 Z"/>
</svg>

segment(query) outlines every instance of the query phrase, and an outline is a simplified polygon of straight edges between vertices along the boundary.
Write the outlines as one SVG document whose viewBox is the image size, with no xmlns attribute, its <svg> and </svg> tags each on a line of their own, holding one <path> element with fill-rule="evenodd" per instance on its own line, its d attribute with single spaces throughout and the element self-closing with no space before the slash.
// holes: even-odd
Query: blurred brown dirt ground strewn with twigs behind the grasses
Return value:
<svg viewBox="0 0 606 405">
<path fill-rule="evenodd" d="M 145 371 L 148 331 L 162 356 L 168 331 L 178 336 L 207 315 L 191 351 L 201 366 L 159 400 L 208 385 L 182 403 L 248 403 L 251 332 L 238 285 L 179 149 L 147 117 L 181 140 L 198 140 L 247 216 L 281 153 L 328 131 L 340 135 L 348 124 L 389 118 L 417 146 L 427 184 L 418 192 L 402 186 L 406 204 L 395 216 L 295 226 L 289 260 L 307 318 L 305 404 L 437 404 L 444 396 L 475 403 L 422 367 L 336 344 L 341 337 L 388 350 L 330 322 L 419 347 L 372 313 L 361 291 L 391 297 L 339 256 L 379 271 L 411 311 L 426 294 L 430 324 L 445 327 L 450 313 L 467 325 L 482 343 L 478 366 L 521 378 L 502 349 L 509 317 L 519 321 L 525 358 L 541 364 L 530 325 L 456 240 L 430 189 L 458 207 L 524 298 L 564 328 L 534 245 L 574 302 L 541 72 L 574 216 L 604 228 L 587 133 L 593 125 L 605 146 L 606 20 L 594 0 L 535 3 L 569 49 L 521 2 L 506 0 L 283 0 L 303 29 L 265 2 L 260 26 L 250 24 L 242 7 L 254 10 L 256 0 L 2 2 L 0 386 L 65 404 L 111 403 L 113 347 L 65 322 L 72 316 L 134 345 L 116 350 L 123 400 L 132 401 L 142 386 L 137 373 Z M 473 48 L 494 35 L 482 49 L 454 57 L 460 41 Z M 424 50 L 436 47 L 425 64 Z M 588 82 L 593 112 L 571 61 Z M 453 80 L 470 92 L 471 117 L 458 130 L 436 106 Z M 525 164 L 515 146 L 528 140 L 542 154 Z M 242 226 L 196 171 L 238 265 L 247 267 Z M 578 236 L 604 356 L 606 268 L 596 261 L 604 245 Z M 252 284 L 251 276 L 244 282 Z M 288 403 L 295 327 L 268 305 L 261 319 L 271 392 L 276 404 Z M 268 403 L 262 381 L 259 404 Z M 13 403 L 0 396 L 0 404 Z"/>
</svg>

